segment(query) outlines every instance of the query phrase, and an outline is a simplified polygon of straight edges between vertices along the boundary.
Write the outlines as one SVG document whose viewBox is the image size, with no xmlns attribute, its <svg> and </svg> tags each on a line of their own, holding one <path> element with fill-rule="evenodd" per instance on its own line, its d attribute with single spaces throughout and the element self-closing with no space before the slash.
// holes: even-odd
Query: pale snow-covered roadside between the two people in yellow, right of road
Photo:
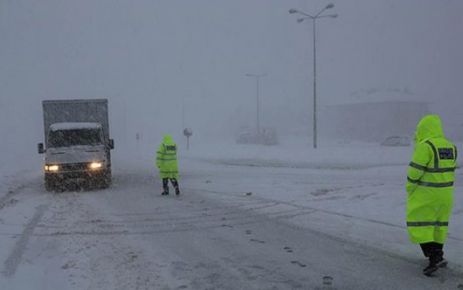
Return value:
<svg viewBox="0 0 463 290">
<path fill-rule="evenodd" d="M 461 144 L 458 146 L 461 148 Z M 357 143 L 314 150 L 307 144 L 290 143 L 275 147 L 212 148 L 215 149 L 193 149 L 181 155 L 190 162 L 185 170 L 187 176 L 197 171 L 214 172 L 210 180 L 191 184 L 196 189 L 228 194 L 252 192 L 258 198 L 314 209 L 313 213 L 292 221 L 410 259 L 421 257 L 419 247 L 409 242 L 405 227 L 404 185 L 412 147 Z M 451 265 L 461 271 L 463 174 L 460 170 L 456 179 L 445 251 Z"/>
</svg>

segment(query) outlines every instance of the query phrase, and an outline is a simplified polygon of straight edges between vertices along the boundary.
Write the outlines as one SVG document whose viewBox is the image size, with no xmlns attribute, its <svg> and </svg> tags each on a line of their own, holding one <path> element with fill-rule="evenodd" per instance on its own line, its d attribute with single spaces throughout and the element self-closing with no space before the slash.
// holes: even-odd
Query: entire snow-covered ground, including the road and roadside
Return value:
<svg viewBox="0 0 463 290">
<path fill-rule="evenodd" d="M 336 289 L 463 284 L 462 173 L 449 269 L 427 278 L 404 226 L 411 148 L 198 146 L 181 153 L 180 197 L 160 196 L 148 152 L 128 161 L 116 151 L 114 185 L 101 191 L 51 194 L 38 170 L 3 171 L 1 288 L 321 289 L 324 276 Z"/>
</svg>

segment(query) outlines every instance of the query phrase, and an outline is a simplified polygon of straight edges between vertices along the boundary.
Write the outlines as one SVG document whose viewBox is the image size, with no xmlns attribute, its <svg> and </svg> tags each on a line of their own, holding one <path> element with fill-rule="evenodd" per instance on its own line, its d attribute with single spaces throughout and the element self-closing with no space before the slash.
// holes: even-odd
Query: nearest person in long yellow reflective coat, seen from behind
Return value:
<svg viewBox="0 0 463 290">
<path fill-rule="evenodd" d="M 407 229 L 412 243 L 429 258 L 423 273 L 445 267 L 443 247 L 453 205 L 457 148 L 448 141 L 437 115 L 418 123 L 416 144 L 407 171 Z"/>
</svg>

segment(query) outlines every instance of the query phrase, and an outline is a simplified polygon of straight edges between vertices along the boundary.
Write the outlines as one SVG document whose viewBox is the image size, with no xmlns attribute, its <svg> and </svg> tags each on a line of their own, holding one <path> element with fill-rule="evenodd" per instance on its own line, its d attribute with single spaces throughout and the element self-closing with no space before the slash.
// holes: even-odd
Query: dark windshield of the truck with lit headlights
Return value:
<svg viewBox="0 0 463 290">
<path fill-rule="evenodd" d="M 97 129 L 72 129 L 50 131 L 49 147 L 101 144 L 101 131 Z"/>
</svg>

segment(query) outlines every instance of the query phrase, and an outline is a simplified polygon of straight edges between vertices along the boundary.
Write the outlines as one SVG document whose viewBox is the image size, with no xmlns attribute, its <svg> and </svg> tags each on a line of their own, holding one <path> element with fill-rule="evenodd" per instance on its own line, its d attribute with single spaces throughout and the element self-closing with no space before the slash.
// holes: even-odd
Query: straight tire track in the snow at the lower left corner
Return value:
<svg viewBox="0 0 463 290">
<path fill-rule="evenodd" d="M 21 234 L 21 237 L 16 242 L 13 248 L 13 251 L 8 256 L 8 258 L 5 260 L 3 275 L 5 275 L 6 277 L 11 277 L 16 272 L 16 269 L 21 263 L 21 259 L 26 249 L 27 243 L 29 242 L 29 239 L 34 232 L 35 227 L 42 219 L 46 209 L 47 209 L 46 205 L 39 205 L 36 208 L 34 216 L 31 218 L 29 223 L 24 228 Z"/>
</svg>

